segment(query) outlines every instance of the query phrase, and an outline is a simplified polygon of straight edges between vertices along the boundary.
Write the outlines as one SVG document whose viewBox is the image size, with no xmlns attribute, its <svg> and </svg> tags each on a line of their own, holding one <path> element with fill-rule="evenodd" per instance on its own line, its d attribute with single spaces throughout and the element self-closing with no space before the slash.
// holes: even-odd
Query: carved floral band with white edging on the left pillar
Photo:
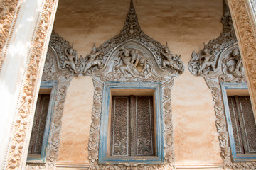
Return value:
<svg viewBox="0 0 256 170">
<path fill-rule="evenodd" d="M 50 32 L 53 27 L 58 0 L 45 0 L 35 26 L 30 53 L 23 72 L 20 95 L 14 116 L 9 151 L 6 153 L 4 169 L 24 169 L 28 152 L 29 134 L 31 132 L 35 98 L 41 82 L 43 63 L 48 47 Z"/>
</svg>

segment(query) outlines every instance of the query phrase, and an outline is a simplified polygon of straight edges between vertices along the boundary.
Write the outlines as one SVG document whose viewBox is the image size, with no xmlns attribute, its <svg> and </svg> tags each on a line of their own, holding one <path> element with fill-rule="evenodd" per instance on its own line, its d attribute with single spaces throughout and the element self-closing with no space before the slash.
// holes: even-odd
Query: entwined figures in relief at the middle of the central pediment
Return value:
<svg viewBox="0 0 256 170">
<path fill-rule="evenodd" d="M 122 74 L 127 76 L 127 73 L 133 77 L 145 76 L 146 58 L 139 52 L 139 50 L 124 49 L 119 53 L 123 64 L 119 66 Z"/>
</svg>

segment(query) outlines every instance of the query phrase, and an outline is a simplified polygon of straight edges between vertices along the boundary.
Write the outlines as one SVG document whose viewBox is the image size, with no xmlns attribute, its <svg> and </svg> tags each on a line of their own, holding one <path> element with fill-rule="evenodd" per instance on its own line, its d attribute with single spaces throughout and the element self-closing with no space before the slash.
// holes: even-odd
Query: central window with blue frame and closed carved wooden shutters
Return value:
<svg viewBox="0 0 256 170">
<path fill-rule="evenodd" d="M 164 162 L 161 84 L 105 82 L 100 164 Z"/>
</svg>

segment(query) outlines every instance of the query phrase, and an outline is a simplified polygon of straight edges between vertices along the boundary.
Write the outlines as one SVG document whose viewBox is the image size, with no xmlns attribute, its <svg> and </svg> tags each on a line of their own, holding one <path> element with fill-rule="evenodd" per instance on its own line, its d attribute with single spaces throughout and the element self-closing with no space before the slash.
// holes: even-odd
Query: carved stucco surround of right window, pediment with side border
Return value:
<svg viewBox="0 0 256 170">
<path fill-rule="evenodd" d="M 255 169 L 256 162 L 233 162 L 225 119 L 221 82 L 246 82 L 238 43 L 236 42 L 233 23 L 227 6 L 224 6 L 222 18 L 223 33 L 220 37 L 205 45 L 200 52 L 192 53 L 188 69 L 196 76 L 204 77 L 213 95 L 216 116 L 216 128 L 220 142 L 220 154 L 225 169 Z M 224 36 L 225 35 L 225 36 Z"/>
</svg>

